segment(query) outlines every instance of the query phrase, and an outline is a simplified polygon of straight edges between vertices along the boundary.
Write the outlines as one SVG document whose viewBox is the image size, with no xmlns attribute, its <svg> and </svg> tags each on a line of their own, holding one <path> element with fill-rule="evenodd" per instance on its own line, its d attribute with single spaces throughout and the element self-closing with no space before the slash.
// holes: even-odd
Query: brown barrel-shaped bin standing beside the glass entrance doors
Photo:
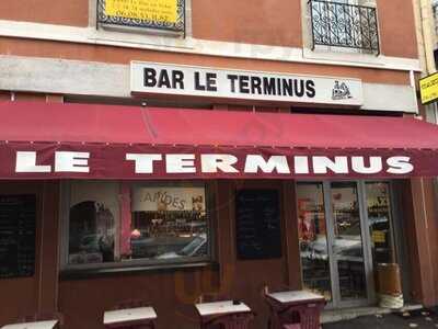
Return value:
<svg viewBox="0 0 438 329">
<path fill-rule="evenodd" d="M 400 266 L 396 263 L 377 265 L 380 307 L 397 309 L 404 305 Z"/>
</svg>

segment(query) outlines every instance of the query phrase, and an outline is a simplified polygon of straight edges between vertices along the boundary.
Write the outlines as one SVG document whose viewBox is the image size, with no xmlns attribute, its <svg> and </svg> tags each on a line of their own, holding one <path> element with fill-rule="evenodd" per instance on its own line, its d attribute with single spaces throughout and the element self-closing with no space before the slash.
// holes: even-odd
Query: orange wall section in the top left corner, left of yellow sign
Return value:
<svg viewBox="0 0 438 329">
<path fill-rule="evenodd" d="M 88 0 L 2 0 L 0 20 L 88 26 Z"/>
</svg>

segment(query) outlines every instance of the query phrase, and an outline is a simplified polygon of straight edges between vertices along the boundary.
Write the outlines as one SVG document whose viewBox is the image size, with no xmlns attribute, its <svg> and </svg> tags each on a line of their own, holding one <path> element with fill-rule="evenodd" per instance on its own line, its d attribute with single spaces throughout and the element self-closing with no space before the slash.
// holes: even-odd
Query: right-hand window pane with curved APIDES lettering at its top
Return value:
<svg viewBox="0 0 438 329">
<path fill-rule="evenodd" d="M 204 188 L 134 188 L 131 259 L 207 256 Z"/>
</svg>

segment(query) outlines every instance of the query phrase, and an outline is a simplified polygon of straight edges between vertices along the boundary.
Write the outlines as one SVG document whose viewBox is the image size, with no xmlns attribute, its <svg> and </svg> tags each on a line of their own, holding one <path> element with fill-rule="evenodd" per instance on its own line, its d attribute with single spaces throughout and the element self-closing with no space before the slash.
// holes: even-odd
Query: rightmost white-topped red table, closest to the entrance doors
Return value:
<svg viewBox="0 0 438 329">
<path fill-rule="evenodd" d="M 299 324 L 301 329 L 319 329 L 320 314 L 325 305 L 323 296 L 307 291 L 267 293 L 272 310 L 269 328 L 280 329 Z"/>
</svg>

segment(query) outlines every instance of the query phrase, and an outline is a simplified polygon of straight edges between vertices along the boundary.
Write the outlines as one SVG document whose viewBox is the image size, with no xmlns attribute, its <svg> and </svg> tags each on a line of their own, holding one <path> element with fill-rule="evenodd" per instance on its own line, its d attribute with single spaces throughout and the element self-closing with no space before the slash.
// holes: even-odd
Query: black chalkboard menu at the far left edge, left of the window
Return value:
<svg viewBox="0 0 438 329">
<path fill-rule="evenodd" d="M 0 195 L 0 279 L 35 272 L 35 195 Z"/>
</svg>

